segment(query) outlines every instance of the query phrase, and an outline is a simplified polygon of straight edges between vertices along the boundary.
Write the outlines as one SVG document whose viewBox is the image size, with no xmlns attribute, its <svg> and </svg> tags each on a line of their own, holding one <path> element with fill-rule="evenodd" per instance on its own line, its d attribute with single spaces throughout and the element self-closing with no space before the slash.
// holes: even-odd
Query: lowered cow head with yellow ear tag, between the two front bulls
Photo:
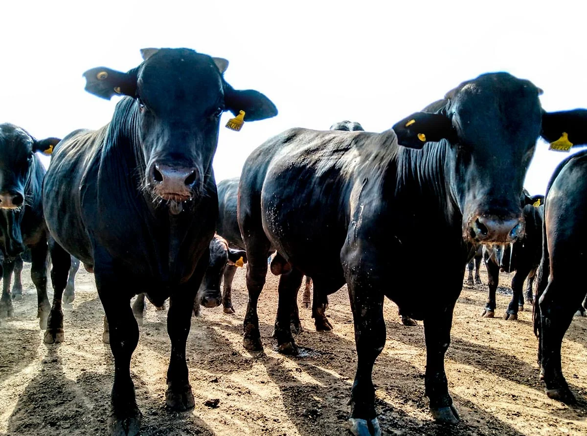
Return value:
<svg viewBox="0 0 587 436">
<path fill-rule="evenodd" d="M 227 241 L 214 235 L 210 241 L 210 261 L 206 269 L 204 279 L 198 289 L 196 301 L 205 307 L 220 306 L 222 302 L 222 292 L 220 291 L 220 281 L 227 265 L 239 265 L 247 262 L 247 252 L 244 250 L 234 250 L 228 247 Z"/>
</svg>

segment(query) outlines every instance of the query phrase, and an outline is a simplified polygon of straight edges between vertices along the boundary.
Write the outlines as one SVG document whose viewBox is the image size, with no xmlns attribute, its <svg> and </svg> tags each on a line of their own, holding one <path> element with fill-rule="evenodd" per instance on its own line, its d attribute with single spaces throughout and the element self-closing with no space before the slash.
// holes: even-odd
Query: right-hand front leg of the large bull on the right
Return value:
<svg viewBox="0 0 587 436">
<path fill-rule="evenodd" d="M 453 323 L 452 306 L 436 310 L 424 318 L 426 341 L 426 396 L 430 398 L 430 411 L 436 421 L 456 424 L 459 416 L 448 394 L 448 383 L 444 372 L 444 354 L 450 345 L 450 328 Z"/>
</svg>

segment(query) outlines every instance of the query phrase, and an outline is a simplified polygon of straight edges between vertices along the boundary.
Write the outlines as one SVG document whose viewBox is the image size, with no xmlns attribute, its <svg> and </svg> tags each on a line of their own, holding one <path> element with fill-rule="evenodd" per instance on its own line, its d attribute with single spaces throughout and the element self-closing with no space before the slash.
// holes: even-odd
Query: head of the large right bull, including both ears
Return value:
<svg viewBox="0 0 587 436">
<path fill-rule="evenodd" d="M 573 145 L 587 142 L 587 111 L 548 114 L 541 93 L 508 73 L 483 74 L 393 127 L 406 147 L 448 142 L 447 188 L 463 215 L 465 240 L 511 243 L 524 236 L 519 199 L 540 135 L 555 141 L 565 132 Z"/>
</svg>

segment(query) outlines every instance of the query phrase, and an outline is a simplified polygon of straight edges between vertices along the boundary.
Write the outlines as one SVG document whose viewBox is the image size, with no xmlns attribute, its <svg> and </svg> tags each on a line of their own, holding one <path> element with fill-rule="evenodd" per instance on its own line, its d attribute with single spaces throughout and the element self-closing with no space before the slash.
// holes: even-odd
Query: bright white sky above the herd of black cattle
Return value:
<svg viewBox="0 0 587 436">
<path fill-rule="evenodd" d="M 225 57 L 225 78 L 277 105 L 271 120 L 221 128 L 216 179 L 289 127 L 336 121 L 383 131 L 461 81 L 509 71 L 544 90 L 548 111 L 587 106 L 582 2 L 242 0 L 2 3 L 0 122 L 37 138 L 98 128 L 114 104 L 83 90 L 96 66 L 126 71 L 143 47 Z M 224 114 L 222 125 L 231 115 Z M 525 186 L 543 193 L 567 154 L 540 142 Z"/>
</svg>

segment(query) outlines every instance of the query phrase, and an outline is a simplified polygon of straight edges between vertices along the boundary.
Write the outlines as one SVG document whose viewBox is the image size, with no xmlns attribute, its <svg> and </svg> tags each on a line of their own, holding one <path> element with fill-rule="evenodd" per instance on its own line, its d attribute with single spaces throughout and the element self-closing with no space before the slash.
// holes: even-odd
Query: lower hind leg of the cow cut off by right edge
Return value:
<svg viewBox="0 0 587 436">
<path fill-rule="evenodd" d="M 561 274 L 562 275 L 562 274 Z M 572 280 L 572 274 L 569 274 Z M 573 403 L 573 396 L 561 367 L 562 338 L 571 325 L 573 314 L 583 295 L 572 282 L 551 276 L 544 294 L 539 298 L 541 377 L 546 383 L 546 395 L 564 403 Z"/>
</svg>

